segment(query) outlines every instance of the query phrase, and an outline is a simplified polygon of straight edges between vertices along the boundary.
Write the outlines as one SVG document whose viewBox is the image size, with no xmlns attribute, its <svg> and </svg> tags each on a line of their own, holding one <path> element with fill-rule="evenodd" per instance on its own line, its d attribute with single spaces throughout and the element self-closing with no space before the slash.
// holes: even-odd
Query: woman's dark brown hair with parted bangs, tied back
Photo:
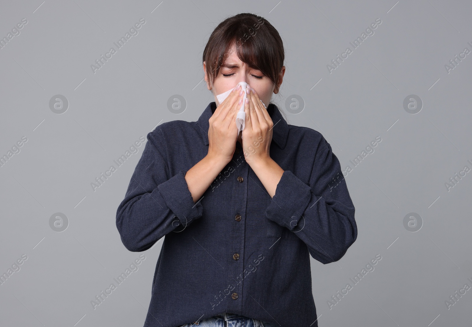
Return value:
<svg viewBox="0 0 472 327">
<path fill-rule="evenodd" d="M 219 23 L 203 50 L 203 61 L 211 89 L 219 68 L 233 45 L 236 45 L 236 54 L 241 61 L 249 67 L 259 69 L 277 88 L 278 75 L 285 58 L 282 39 L 265 18 L 241 13 Z"/>
</svg>

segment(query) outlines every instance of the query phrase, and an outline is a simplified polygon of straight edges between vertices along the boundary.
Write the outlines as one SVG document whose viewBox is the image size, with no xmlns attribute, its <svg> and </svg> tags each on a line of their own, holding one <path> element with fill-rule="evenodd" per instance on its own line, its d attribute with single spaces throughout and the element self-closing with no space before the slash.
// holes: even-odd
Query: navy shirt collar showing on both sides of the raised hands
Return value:
<svg viewBox="0 0 472 327">
<path fill-rule="evenodd" d="M 197 120 L 197 125 L 200 126 L 200 133 L 202 134 L 205 145 L 209 145 L 208 129 L 210 128 L 210 123 L 208 120 L 213 115 L 215 109 L 216 102 L 210 102 L 206 109 L 203 111 L 202 115 Z M 270 118 L 272 118 L 272 122 L 274 123 L 274 126 L 272 128 L 272 141 L 277 143 L 280 149 L 283 149 L 285 147 L 285 144 L 287 143 L 287 121 L 284 119 L 284 117 L 280 113 L 280 109 L 278 109 L 275 104 L 269 103 L 267 111 L 269 112 Z"/>
</svg>

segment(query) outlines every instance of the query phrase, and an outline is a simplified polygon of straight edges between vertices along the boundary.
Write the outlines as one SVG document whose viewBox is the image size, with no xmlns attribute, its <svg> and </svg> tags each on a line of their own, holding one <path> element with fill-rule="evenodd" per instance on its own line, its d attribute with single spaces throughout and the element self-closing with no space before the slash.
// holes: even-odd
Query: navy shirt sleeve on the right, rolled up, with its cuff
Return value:
<svg viewBox="0 0 472 327">
<path fill-rule="evenodd" d="M 266 217 L 293 231 L 326 264 L 344 256 L 357 238 L 357 225 L 339 160 L 324 139 L 319 149 L 309 184 L 284 171 Z"/>
</svg>

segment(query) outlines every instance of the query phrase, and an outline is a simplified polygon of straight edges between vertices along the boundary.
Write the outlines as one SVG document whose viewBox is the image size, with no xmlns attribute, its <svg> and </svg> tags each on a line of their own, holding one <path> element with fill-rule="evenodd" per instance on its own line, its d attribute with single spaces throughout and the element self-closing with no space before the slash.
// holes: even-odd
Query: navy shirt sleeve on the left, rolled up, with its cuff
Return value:
<svg viewBox="0 0 472 327">
<path fill-rule="evenodd" d="M 202 217 L 202 204 L 194 203 L 186 171 L 169 174 L 159 127 L 147 135 L 148 142 L 116 214 L 121 241 L 133 252 L 149 249 L 177 226 L 188 226 Z"/>
</svg>

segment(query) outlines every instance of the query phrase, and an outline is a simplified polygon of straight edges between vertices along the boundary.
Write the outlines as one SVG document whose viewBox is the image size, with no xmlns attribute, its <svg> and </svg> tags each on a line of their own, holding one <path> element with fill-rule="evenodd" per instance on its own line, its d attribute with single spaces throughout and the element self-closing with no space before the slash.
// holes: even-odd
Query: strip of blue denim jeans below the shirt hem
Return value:
<svg viewBox="0 0 472 327">
<path fill-rule="evenodd" d="M 213 317 L 179 327 L 278 327 L 259 319 L 247 318 L 235 313 L 223 312 Z"/>
</svg>

